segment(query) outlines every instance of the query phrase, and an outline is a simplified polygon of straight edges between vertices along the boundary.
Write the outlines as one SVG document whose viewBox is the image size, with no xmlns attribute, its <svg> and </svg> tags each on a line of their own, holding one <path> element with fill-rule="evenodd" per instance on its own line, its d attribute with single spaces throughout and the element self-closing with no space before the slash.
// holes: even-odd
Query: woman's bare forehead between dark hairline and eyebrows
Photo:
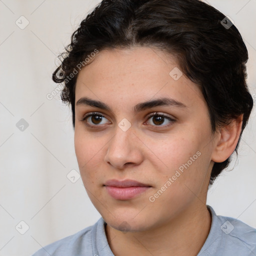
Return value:
<svg viewBox="0 0 256 256">
<path fill-rule="evenodd" d="M 75 102 L 81 96 L 133 105 L 141 99 L 165 96 L 186 105 L 204 101 L 198 86 L 182 74 L 174 57 L 151 47 L 99 51 L 78 74 Z"/>
</svg>

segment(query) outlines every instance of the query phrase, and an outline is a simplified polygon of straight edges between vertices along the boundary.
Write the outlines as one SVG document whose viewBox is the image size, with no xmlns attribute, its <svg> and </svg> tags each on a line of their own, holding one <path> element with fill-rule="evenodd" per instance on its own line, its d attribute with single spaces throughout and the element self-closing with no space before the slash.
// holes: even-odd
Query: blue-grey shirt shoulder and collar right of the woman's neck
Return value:
<svg viewBox="0 0 256 256">
<path fill-rule="evenodd" d="M 209 205 L 207 207 L 212 216 L 211 228 L 203 246 L 204 253 L 198 255 L 256 255 L 256 228 L 236 218 L 216 215 Z"/>
</svg>

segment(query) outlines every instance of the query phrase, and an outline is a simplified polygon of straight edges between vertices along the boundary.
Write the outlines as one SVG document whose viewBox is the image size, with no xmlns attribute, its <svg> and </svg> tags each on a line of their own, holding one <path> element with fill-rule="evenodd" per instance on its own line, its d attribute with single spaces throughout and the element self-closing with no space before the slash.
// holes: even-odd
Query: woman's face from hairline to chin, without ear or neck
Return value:
<svg viewBox="0 0 256 256">
<path fill-rule="evenodd" d="M 215 139 L 199 88 L 177 66 L 170 54 L 134 47 L 102 50 L 78 74 L 74 144 L 81 178 L 116 229 L 163 225 L 205 201 Z M 107 186 L 110 179 L 147 186 Z"/>
</svg>

